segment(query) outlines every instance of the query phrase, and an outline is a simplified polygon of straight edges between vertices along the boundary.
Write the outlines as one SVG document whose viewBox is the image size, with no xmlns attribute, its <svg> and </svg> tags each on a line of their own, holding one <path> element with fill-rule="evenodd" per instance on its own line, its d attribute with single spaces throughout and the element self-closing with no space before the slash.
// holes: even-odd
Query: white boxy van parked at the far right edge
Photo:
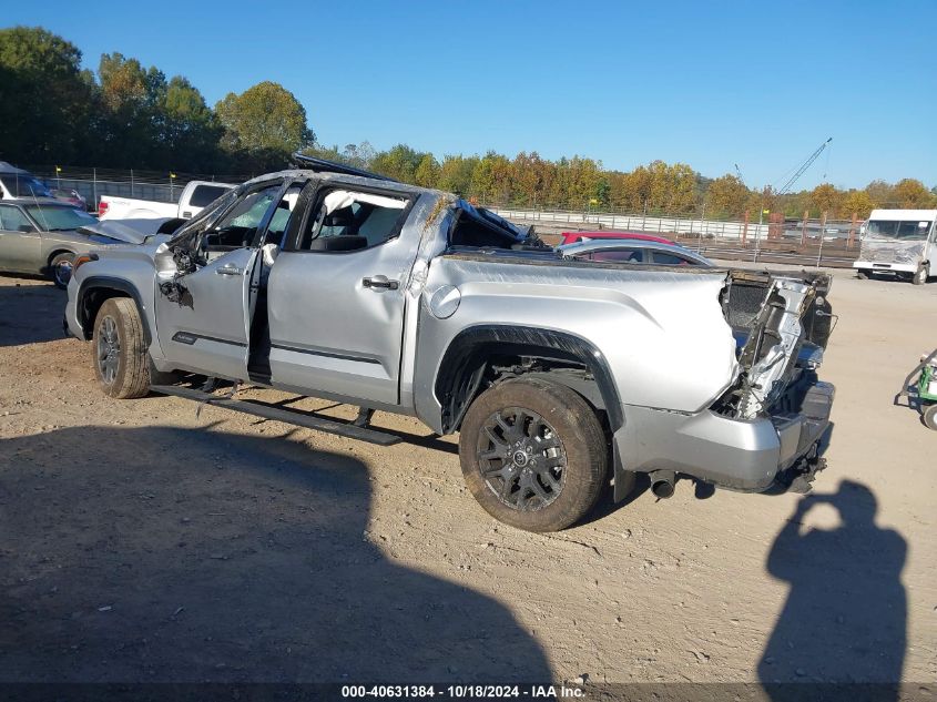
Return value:
<svg viewBox="0 0 937 702">
<path fill-rule="evenodd" d="M 937 210 L 873 210 L 862 227 L 860 278 L 890 273 L 923 285 L 937 275 Z"/>
</svg>

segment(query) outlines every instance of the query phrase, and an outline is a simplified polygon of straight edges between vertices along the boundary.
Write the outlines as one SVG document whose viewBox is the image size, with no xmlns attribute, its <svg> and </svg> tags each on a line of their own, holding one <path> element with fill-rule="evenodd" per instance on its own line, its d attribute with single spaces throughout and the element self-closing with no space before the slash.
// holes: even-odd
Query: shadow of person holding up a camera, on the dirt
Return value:
<svg viewBox="0 0 937 702">
<path fill-rule="evenodd" d="M 841 526 L 801 533 L 805 515 L 823 503 L 836 508 Z M 844 480 L 834 495 L 803 498 L 777 535 L 767 570 L 791 583 L 791 591 L 758 663 L 768 693 L 775 682 L 868 682 L 885 683 L 876 700 L 896 699 L 905 655 L 900 576 L 907 545 L 897 531 L 875 525 L 876 509 L 872 490 Z"/>
</svg>

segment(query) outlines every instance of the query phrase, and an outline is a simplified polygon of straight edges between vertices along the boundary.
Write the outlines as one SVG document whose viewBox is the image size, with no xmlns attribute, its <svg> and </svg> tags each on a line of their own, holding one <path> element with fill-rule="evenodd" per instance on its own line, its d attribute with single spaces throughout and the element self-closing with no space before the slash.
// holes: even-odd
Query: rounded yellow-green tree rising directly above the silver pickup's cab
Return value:
<svg viewBox="0 0 937 702">
<path fill-rule="evenodd" d="M 315 143 L 305 108 L 279 83 L 228 93 L 215 114 L 224 128 L 223 147 L 254 169 L 282 167 L 289 154 Z"/>
</svg>

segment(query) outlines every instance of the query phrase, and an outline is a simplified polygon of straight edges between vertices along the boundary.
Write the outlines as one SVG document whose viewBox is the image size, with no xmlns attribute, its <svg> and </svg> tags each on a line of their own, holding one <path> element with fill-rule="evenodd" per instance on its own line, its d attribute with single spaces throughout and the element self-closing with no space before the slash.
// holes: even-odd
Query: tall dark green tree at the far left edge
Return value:
<svg viewBox="0 0 937 702">
<path fill-rule="evenodd" d="M 93 83 L 74 44 L 41 28 L 0 30 L 0 159 L 86 157 L 92 101 Z"/>
</svg>

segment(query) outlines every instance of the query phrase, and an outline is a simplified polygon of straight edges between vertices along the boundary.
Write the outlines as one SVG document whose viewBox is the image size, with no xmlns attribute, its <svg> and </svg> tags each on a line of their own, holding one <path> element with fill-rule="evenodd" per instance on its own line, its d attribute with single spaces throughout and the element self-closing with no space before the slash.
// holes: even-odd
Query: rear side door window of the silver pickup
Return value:
<svg viewBox="0 0 937 702">
<path fill-rule="evenodd" d="M 299 237 L 299 251 L 378 246 L 400 233 L 409 200 L 335 189 L 320 195 Z"/>
</svg>

